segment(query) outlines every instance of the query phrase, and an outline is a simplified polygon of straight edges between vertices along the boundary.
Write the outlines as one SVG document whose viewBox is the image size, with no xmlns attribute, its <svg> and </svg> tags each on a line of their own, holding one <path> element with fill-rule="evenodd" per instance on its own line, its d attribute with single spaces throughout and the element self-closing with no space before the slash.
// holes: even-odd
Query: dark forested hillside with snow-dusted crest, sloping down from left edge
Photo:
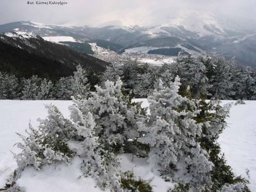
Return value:
<svg viewBox="0 0 256 192">
<path fill-rule="evenodd" d="M 40 36 L 25 33 L 0 35 L 0 70 L 29 77 L 56 79 L 70 76 L 77 65 L 102 72 L 108 63 L 67 46 L 45 41 Z"/>
</svg>

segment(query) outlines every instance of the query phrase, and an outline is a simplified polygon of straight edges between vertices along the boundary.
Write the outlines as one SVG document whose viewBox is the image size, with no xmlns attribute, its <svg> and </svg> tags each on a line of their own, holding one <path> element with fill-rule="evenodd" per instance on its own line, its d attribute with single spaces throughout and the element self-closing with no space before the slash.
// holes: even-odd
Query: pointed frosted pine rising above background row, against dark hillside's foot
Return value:
<svg viewBox="0 0 256 192">
<path fill-rule="evenodd" d="M 74 76 L 71 79 L 72 96 L 85 98 L 90 92 L 86 70 L 77 65 Z"/>
</svg>

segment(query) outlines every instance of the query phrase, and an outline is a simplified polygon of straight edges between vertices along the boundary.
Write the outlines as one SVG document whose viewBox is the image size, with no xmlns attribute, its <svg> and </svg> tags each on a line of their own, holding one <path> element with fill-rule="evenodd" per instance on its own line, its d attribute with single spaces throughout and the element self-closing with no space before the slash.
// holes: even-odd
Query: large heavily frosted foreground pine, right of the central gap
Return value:
<svg viewBox="0 0 256 192">
<path fill-rule="evenodd" d="M 138 139 L 150 145 L 149 158 L 168 179 L 195 186 L 207 184 L 212 163 L 196 140 L 202 134 L 196 124 L 194 102 L 179 95 L 180 79 L 159 86 L 148 97 L 150 116 L 147 123 L 138 122 L 145 136 Z"/>
</svg>

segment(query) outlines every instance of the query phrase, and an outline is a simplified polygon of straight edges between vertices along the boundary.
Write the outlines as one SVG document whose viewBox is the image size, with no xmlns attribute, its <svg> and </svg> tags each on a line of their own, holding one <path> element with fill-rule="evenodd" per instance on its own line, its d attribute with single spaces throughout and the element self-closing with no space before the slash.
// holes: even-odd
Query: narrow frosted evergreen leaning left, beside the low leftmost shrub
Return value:
<svg viewBox="0 0 256 192">
<path fill-rule="evenodd" d="M 88 109 L 84 113 L 74 104 L 70 107 L 78 136 L 81 136 L 79 156 L 83 159 L 81 169 L 86 177 L 92 176 L 100 188 L 122 191 L 120 187 L 119 162 L 115 154 L 101 147 L 101 140 L 95 134 L 95 122 Z M 87 111 L 87 112 L 86 112 Z"/>
</svg>

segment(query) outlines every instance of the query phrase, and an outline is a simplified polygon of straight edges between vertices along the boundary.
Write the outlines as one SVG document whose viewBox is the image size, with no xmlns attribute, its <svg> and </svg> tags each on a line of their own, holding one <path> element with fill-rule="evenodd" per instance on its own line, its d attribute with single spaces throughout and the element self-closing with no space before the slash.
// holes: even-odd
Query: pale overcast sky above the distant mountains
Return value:
<svg viewBox="0 0 256 192">
<path fill-rule="evenodd" d="M 68 3 L 63 6 L 28 5 L 27 1 L 0 0 L 0 24 L 33 20 L 80 26 L 153 26 L 215 19 L 222 24 L 256 25 L 256 0 L 61 0 Z"/>
</svg>

